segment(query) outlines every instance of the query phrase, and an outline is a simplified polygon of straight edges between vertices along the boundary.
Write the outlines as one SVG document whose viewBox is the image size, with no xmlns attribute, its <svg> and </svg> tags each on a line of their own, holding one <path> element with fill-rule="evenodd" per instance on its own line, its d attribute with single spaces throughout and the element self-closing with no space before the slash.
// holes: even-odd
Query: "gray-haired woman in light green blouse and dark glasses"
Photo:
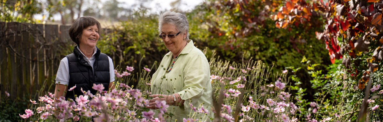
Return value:
<svg viewBox="0 0 383 122">
<path fill-rule="evenodd" d="M 157 71 L 151 80 L 150 109 L 159 109 L 155 101 L 166 101 L 170 105 L 167 112 L 174 114 L 165 117 L 168 122 L 183 118 L 208 121 L 213 117 L 211 111 L 211 82 L 210 67 L 206 56 L 189 40 L 189 24 L 185 15 L 166 11 L 159 21 L 159 37 L 170 51 L 165 54 Z M 172 107 L 174 106 L 174 107 Z M 196 108 L 203 108 L 198 116 L 194 115 Z"/>
</svg>

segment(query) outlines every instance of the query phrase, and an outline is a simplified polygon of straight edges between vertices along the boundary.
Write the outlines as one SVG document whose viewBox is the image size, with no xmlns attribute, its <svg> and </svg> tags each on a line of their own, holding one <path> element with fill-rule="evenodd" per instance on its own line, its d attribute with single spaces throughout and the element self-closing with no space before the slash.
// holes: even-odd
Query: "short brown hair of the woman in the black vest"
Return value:
<svg viewBox="0 0 383 122">
<path fill-rule="evenodd" d="M 70 39 L 72 39 L 72 41 L 77 45 L 80 45 L 80 37 L 82 35 L 82 30 L 95 24 L 97 25 L 98 34 L 100 34 L 102 32 L 101 24 L 96 20 L 96 18 L 94 18 L 93 16 L 83 16 L 77 18 L 69 29 Z"/>
</svg>

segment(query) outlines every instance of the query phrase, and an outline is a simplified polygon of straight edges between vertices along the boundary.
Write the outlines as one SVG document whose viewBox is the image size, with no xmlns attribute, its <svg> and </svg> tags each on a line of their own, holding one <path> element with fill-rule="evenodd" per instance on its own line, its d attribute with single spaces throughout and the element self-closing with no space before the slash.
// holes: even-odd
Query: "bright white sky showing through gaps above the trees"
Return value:
<svg viewBox="0 0 383 122">
<path fill-rule="evenodd" d="M 41 0 L 41 1 L 45 1 L 45 0 Z M 102 3 L 106 2 L 107 0 L 100 0 L 100 1 L 101 3 L 98 3 L 98 6 L 101 8 Z M 117 1 L 124 3 L 121 5 L 124 8 L 128 8 L 137 2 L 137 0 L 117 0 Z M 152 0 L 151 2 L 145 3 L 144 6 L 146 6 L 147 8 L 151 8 L 149 13 L 159 14 L 160 11 L 170 10 L 171 9 L 170 3 L 174 1 L 176 0 Z M 192 10 L 196 5 L 199 5 L 200 3 L 203 3 L 203 2 L 204 0 L 181 0 L 181 5 L 179 6 L 179 8 L 182 11 L 189 11 L 189 10 Z M 94 4 L 94 3 L 90 3 L 90 4 Z M 37 14 L 34 16 L 34 18 L 41 20 L 43 18 L 43 14 Z M 59 16 L 58 14 L 54 15 L 53 19 L 61 20 L 61 16 Z"/>
</svg>

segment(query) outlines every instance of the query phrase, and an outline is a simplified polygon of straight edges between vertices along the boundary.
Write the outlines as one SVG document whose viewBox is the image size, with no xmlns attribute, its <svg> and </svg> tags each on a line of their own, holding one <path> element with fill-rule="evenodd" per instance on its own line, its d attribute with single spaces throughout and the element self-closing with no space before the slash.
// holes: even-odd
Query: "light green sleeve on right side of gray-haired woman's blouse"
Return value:
<svg viewBox="0 0 383 122">
<path fill-rule="evenodd" d="M 200 99 L 209 82 L 210 67 L 208 61 L 200 55 L 192 58 L 185 67 L 183 75 L 184 87 L 178 94 L 182 100 L 185 100 L 184 105 L 188 106 L 188 103 L 194 104 Z"/>
</svg>

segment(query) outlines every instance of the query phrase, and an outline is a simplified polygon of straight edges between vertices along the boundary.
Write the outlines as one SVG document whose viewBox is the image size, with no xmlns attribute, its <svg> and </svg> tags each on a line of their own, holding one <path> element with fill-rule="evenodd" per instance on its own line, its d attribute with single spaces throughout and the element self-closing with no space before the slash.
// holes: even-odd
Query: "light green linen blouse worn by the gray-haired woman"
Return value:
<svg viewBox="0 0 383 122">
<path fill-rule="evenodd" d="M 178 93 L 181 99 L 185 100 L 183 106 L 169 106 L 167 108 L 167 112 L 174 115 L 167 117 L 167 122 L 174 122 L 175 119 L 177 122 L 183 122 L 183 118 L 190 117 L 199 119 L 198 121 L 210 122 L 209 117 L 213 118 L 213 112 L 211 111 L 212 90 L 208 60 L 201 50 L 194 47 L 192 40 L 188 40 L 188 44 L 173 64 L 172 70 L 166 73 L 166 69 L 171 66 L 170 62 L 173 62 L 172 57 L 173 53 L 169 52 L 162 58 L 159 68 L 151 80 L 152 95 Z M 189 103 L 197 109 L 201 108 L 203 104 L 203 108 L 208 110 L 209 114 L 205 115 L 193 111 Z"/>
</svg>

